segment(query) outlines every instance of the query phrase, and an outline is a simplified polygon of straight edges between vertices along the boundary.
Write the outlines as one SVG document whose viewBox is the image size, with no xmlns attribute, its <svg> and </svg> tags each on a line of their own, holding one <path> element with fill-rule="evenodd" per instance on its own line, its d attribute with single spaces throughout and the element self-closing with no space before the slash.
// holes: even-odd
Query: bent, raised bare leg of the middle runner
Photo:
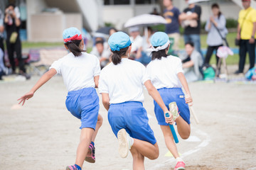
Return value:
<svg viewBox="0 0 256 170">
<path fill-rule="evenodd" d="M 142 154 L 142 156 L 149 159 L 156 159 L 159 157 L 159 147 L 157 143 L 152 145 L 149 142 L 134 139 L 134 144 L 132 145 L 131 150 L 132 149 L 136 149 L 139 154 Z"/>
</svg>

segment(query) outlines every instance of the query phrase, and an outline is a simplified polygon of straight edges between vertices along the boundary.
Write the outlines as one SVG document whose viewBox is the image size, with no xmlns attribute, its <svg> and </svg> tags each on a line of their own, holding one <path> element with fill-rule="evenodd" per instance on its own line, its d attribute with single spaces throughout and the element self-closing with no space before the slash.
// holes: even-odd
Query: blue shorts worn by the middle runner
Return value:
<svg viewBox="0 0 256 170">
<path fill-rule="evenodd" d="M 154 132 L 149 126 L 149 118 L 141 102 L 111 104 L 108 120 L 116 137 L 119 130 L 125 129 L 135 139 L 150 142 L 152 145 L 156 144 Z"/>
</svg>

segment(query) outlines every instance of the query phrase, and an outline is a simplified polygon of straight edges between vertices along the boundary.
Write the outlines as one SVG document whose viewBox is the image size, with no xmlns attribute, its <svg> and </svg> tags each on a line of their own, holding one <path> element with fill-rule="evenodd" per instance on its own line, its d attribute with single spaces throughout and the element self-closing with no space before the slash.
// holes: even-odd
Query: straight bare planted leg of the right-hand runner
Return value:
<svg viewBox="0 0 256 170">
<path fill-rule="evenodd" d="M 160 125 L 161 130 L 164 134 L 164 140 L 166 143 L 166 147 L 169 149 L 172 155 L 174 155 L 175 158 L 178 156 L 178 149 L 176 147 L 176 144 L 174 143 L 174 137 L 171 133 L 171 129 L 167 125 Z"/>
</svg>

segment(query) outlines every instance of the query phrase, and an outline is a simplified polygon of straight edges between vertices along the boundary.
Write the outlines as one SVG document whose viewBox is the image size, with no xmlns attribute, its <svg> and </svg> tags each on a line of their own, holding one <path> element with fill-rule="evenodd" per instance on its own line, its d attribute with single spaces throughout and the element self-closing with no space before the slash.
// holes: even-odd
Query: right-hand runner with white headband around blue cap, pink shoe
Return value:
<svg viewBox="0 0 256 170">
<path fill-rule="evenodd" d="M 191 127 L 190 112 L 187 103 L 192 103 L 192 98 L 188 89 L 188 83 L 183 74 L 181 59 L 171 55 L 167 56 L 170 41 L 166 33 L 154 33 L 150 42 L 152 47 L 149 51 L 152 52 L 152 60 L 147 65 L 146 72 L 151 79 L 152 84 L 159 91 L 161 98 L 163 98 L 164 104 L 169 106 L 169 103 L 176 102 L 178 108 L 170 108 L 170 112 L 174 115 L 174 122 L 176 122 L 178 134 L 182 139 L 188 139 Z M 182 86 L 186 91 L 186 97 L 181 89 Z M 168 123 L 166 123 L 165 114 L 156 101 L 154 101 L 154 112 L 164 134 L 166 147 L 176 158 L 176 166 L 174 170 L 185 169 L 185 163 L 178 155 L 171 129 L 169 128 Z"/>
</svg>

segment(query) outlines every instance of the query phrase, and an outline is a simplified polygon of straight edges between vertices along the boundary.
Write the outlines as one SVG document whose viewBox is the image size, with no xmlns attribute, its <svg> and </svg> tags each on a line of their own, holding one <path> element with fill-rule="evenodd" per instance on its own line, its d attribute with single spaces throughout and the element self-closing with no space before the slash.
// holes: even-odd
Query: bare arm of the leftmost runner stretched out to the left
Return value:
<svg viewBox="0 0 256 170">
<path fill-rule="evenodd" d="M 22 103 L 22 106 L 24 105 L 25 101 L 29 98 L 33 97 L 33 94 L 41 87 L 43 84 L 45 84 L 49 79 L 51 79 L 55 74 L 57 74 L 55 69 L 50 69 L 48 72 L 43 74 L 43 76 L 36 82 L 35 86 L 24 96 L 21 96 L 21 98 L 18 98 L 18 101 L 20 101 L 18 104 Z"/>
</svg>

